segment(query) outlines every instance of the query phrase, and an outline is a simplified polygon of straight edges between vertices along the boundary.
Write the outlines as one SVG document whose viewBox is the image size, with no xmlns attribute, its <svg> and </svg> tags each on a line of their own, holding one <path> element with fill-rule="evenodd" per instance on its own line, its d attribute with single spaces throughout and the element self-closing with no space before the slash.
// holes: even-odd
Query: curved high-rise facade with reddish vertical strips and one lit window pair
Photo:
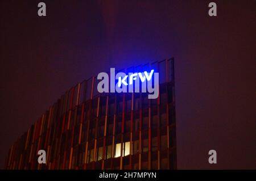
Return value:
<svg viewBox="0 0 256 181">
<path fill-rule="evenodd" d="M 157 99 L 99 94 L 97 76 L 78 83 L 11 146 L 6 169 L 176 169 L 174 58 L 123 72 L 147 68 L 159 72 Z"/>
</svg>

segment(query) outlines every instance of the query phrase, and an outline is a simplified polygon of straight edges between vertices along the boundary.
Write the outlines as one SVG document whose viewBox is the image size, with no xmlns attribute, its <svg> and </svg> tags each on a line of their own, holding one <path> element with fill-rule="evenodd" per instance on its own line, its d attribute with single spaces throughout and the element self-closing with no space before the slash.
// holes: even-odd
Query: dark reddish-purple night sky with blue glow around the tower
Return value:
<svg viewBox="0 0 256 181">
<path fill-rule="evenodd" d="M 178 169 L 256 169 L 256 1 L 38 2 L 0 3 L 1 166 L 77 82 L 174 56 Z"/>
</svg>

